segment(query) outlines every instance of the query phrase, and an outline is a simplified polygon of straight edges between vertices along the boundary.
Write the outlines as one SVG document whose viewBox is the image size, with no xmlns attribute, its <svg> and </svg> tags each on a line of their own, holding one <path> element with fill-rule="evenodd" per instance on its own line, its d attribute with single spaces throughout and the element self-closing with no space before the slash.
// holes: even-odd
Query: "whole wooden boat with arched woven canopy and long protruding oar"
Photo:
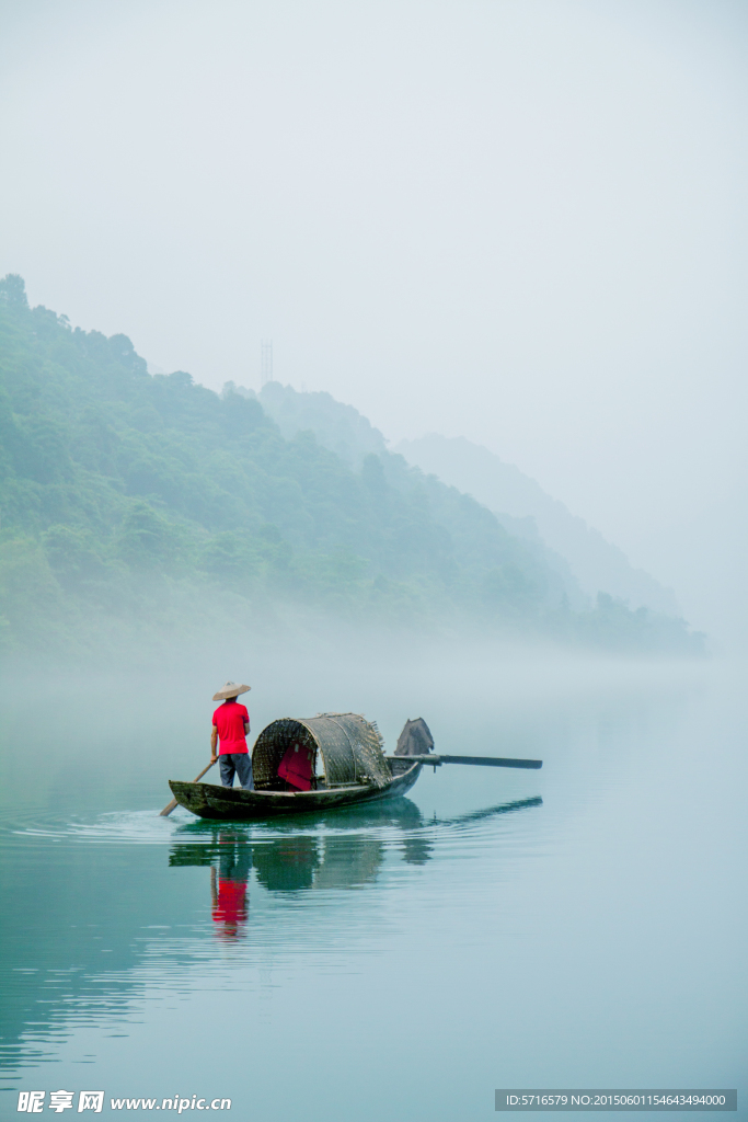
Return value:
<svg viewBox="0 0 748 1122">
<path fill-rule="evenodd" d="M 396 754 L 386 756 L 376 724 L 358 714 L 285 717 L 274 720 L 257 738 L 252 749 L 253 791 L 177 780 L 169 780 L 169 787 L 176 802 L 193 815 L 249 821 L 401 795 L 410 790 L 424 765 L 542 766 L 539 760 L 436 755 L 431 752 L 432 745 L 431 733 L 421 719 L 408 721 Z"/>
</svg>

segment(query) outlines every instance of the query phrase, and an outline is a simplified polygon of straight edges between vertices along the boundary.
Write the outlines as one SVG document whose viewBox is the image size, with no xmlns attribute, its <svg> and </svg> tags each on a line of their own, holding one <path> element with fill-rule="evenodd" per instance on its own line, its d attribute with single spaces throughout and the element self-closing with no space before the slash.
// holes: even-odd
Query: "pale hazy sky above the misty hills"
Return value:
<svg viewBox="0 0 748 1122">
<path fill-rule="evenodd" d="M 745 0 L 0 0 L 0 275 L 534 476 L 748 623 Z"/>
</svg>

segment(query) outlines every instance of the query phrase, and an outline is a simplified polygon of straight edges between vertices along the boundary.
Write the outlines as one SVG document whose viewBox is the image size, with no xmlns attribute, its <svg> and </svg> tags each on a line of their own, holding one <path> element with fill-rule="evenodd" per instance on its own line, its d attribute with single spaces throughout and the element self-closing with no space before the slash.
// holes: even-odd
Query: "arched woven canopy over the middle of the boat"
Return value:
<svg viewBox="0 0 748 1122">
<path fill-rule="evenodd" d="M 284 717 L 262 729 L 252 749 L 258 790 L 283 787 L 278 767 L 294 745 L 301 751 L 313 751 L 315 756 L 317 752 L 321 754 L 327 788 L 351 783 L 385 788 L 393 781 L 373 721 L 355 712 L 323 712 L 316 717 Z"/>
</svg>

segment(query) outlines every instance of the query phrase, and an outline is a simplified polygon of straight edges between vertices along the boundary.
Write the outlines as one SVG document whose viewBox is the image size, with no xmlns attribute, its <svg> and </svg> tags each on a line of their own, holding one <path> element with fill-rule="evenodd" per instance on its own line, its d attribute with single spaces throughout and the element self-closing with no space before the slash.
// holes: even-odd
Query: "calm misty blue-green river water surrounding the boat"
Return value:
<svg viewBox="0 0 748 1122">
<path fill-rule="evenodd" d="M 2 1118 L 62 1088 L 63 1118 L 89 1089 L 117 1116 L 478 1122 L 510 1086 L 737 1086 L 748 1118 L 741 669 L 268 664 L 252 736 L 353 710 L 393 751 L 423 716 L 436 751 L 545 766 L 424 771 L 324 819 L 158 818 L 224 678 L 4 683 Z"/>
</svg>

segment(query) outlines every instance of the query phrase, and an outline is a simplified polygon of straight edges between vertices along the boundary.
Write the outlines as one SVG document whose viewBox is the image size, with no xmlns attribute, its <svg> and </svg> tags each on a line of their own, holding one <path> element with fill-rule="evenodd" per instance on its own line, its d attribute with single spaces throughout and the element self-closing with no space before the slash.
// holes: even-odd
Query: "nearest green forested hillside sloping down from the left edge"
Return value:
<svg viewBox="0 0 748 1122">
<path fill-rule="evenodd" d="M 207 626 L 552 635 L 698 651 L 612 600 L 474 499 L 370 453 L 285 439 L 259 402 L 151 376 L 124 335 L 71 329 L 0 282 L 0 597 L 7 652 L 114 649 Z M 294 615 L 296 613 L 296 615 Z M 280 615 L 278 615 L 280 614 Z"/>
</svg>

